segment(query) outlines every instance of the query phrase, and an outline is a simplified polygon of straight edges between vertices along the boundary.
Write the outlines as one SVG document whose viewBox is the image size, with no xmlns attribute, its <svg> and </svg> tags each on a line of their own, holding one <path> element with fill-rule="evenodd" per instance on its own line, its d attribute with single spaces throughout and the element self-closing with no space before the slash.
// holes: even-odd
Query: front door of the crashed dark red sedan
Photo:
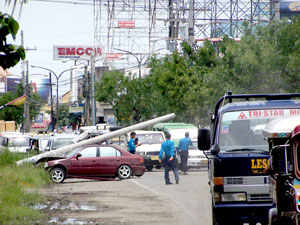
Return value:
<svg viewBox="0 0 300 225">
<path fill-rule="evenodd" d="M 89 147 L 82 149 L 78 153 L 80 153 L 81 156 L 73 157 L 71 159 L 72 167 L 69 170 L 69 175 L 97 176 L 100 173 L 98 147 L 97 146 L 89 146 Z"/>
</svg>

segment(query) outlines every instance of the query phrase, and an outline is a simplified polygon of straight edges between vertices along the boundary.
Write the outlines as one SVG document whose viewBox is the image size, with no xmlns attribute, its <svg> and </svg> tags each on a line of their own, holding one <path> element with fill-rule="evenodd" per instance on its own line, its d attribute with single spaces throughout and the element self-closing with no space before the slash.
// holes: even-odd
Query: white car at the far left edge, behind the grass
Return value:
<svg viewBox="0 0 300 225">
<path fill-rule="evenodd" d="M 30 136 L 19 132 L 3 132 L 0 134 L 0 151 L 25 153 L 30 147 Z"/>
</svg>

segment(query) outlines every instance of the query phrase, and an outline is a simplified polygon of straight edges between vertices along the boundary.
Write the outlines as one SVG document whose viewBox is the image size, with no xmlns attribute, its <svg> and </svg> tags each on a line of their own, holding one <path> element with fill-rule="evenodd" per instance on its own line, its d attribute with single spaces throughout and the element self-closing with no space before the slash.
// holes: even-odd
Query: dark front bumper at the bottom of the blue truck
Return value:
<svg viewBox="0 0 300 225">
<path fill-rule="evenodd" d="M 213 207 L 217 224 L 268 224 L 268 212 L 273 203 L 218 204 Z"/>
</svg>

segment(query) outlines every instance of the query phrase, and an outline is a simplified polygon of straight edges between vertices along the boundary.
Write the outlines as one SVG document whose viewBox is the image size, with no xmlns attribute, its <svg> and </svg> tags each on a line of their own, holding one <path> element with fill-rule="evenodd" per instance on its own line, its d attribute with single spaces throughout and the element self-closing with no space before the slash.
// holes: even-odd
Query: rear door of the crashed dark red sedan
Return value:
<svg viewBox="0 0 300 225">
<path fill-rule="evenodd" d="M 104 176 L 114 176 L 122 164 L 122 154 L 112 146 L 100 146 L 99 167 Z"/>
</svg>

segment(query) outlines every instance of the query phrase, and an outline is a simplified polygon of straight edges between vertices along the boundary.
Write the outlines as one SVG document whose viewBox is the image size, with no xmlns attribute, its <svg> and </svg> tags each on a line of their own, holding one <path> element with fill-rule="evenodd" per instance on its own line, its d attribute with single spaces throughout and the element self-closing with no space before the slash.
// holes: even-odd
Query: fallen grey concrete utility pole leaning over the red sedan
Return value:
<svg viewBox="0 0 300 225">
<path fill-rule="evenodd" d="M 102 143 L 103 141 L 105 141 L 107 139 L 118 137 L 118 136 L 121 136 L 123 134 L 127 134 L 129 132 L 132 132 L 134 130 L 143 129 L 143 128 L 151 126 L 153 124 L 173 119 L 174 117 L 175 117 L 175 113 L 171 113 L 171 114 L 161 116 L 161 117 L 158 117 L 158 118 L 155 118 L 155 119 L 152 119 L 152 120 L 148 120 L 148 121 L 138 123 L 138 124 L 135 124 L 135 125 L 132 125 L 132 126 L 129 126 L 129 127 L 125 127 L 125 128 L 122 128 L 122 129 L 119 129 L 119 130 L 116 130 L 116 131 L 112 131 L 112 132 L 109 132 L 107 134 L 103 134 L 103 135 L 100 135 L 100 136 L 97 136 L 97 137 L 94 137 L 94 138 L 90 138 L 88 140 L 80 141 L 80 142 L 75 143 L 75 144 L 71 144 L 71 145 L 68 145 L 68 146 L 65 146 L 65 147 L 61 147 L 61 148 L 58 148 L 56 150 L 52 150 L 52 151 L 45 152 L 45 153 L 42 153 L 42 154 L 39 154 L 39 155 L 36 155 L 36 156 L 32 156 L 32 157 L 29 157 L 29 158 L 26 158 L 26 159 L 22 159 L 22 160 L 18 161 L 17 164 L 21 165 L 22 163 L 25 163 L 25 162 L 35 164 L 41 158 L 61 156 L 62 154 L 70 152 L 70 151 L 72 151 L 76 148 L 80 148 L 80 147 L 85 146 L 85 145 L 93 145 L 93 144 Z"/>
</svg>

